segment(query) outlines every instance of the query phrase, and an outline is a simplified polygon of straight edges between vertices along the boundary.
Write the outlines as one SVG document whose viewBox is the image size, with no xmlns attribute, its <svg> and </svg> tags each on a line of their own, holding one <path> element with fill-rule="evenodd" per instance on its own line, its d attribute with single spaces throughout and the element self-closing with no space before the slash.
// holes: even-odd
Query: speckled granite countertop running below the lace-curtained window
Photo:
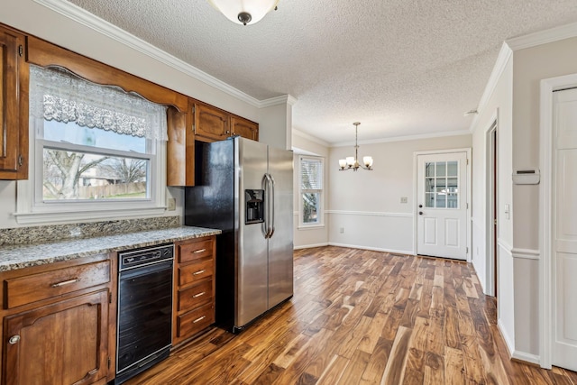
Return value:
<svg viewBox="0 0 577 385">
<path fill-rule="evenodd" d="M 53 243 L 0 246 L 0 271 L 23 269 L 55 261 L 69 261 L 100 253 L 121 252 L 221 233 L 220 230 L 215 229 L 179 226 L 127 234 L 67 239 Z"/>
</svg>

